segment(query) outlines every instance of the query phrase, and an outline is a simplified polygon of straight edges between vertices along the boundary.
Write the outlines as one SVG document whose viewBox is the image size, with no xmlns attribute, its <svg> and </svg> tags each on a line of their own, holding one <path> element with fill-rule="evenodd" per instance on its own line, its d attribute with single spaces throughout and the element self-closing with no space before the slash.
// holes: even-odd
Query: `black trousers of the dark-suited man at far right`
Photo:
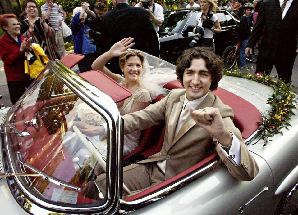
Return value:
<svg viewBox="0 0 298 215">
<path fill-rule="evenodd" d="M 290 83 L 295 57 L 295 54 L 291 57 L 285 57 L 283 54 L 263 57 L 259 50 L 256 72 L 265 72 L 268 75 L 271 73 L 273 65 L 275 65 L 278 78 L 282 79 L 285 83 Z"/>
</svg>

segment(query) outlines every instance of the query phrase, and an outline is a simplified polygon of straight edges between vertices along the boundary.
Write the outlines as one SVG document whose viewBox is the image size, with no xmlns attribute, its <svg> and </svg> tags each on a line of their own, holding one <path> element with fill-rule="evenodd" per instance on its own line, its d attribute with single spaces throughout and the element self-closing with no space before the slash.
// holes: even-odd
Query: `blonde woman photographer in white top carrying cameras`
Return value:
<svg viewBox="0 0 298 215">
<path fill-rule="evenodd" d="M 220 33 L 222 31 L 218 18 L 214 14 L 218 6 L 212 0 L 202 0 L 200 5 L 202 12 L 196 16 L 197 21 L 194 28 L 196 35 L 191 41 L 190 47 L 197 43 L 197 46 L 211 47 L 215 52 L 213 32 Z"/>
</svg>

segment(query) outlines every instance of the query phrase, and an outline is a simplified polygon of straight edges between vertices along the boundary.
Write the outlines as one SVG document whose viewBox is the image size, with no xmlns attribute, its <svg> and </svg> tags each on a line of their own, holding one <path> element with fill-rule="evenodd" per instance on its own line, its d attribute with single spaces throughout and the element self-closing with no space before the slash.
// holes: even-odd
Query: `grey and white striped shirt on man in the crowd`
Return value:
<svg viewBox="0 0 298 215">
<path fill-rule="evenodd" d="M 48 4 L 45 3 L 41 6 L 41 13 L 45 14 L 48 11 Z M 62 26 L 59 25 L 59 21 L 62 20 L 63 10 L 56 3 L 53 4 L 50 17 L 48 20 L 51 22 L 51 25 L 55 31 L 62 29 Z"/>
</svg>

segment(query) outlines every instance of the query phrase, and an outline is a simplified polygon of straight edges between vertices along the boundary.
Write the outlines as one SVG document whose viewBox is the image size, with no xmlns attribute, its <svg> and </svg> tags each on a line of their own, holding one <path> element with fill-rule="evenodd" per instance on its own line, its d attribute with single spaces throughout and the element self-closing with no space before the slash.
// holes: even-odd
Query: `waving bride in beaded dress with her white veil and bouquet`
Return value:
<svg viewBox="0 0 298 215">
<path fill-rule="evenodd" d="M 99 56 L 92 64 L 92 69 L 102 71 L 132 92 L 132 96 L 117 103 L 121 116 L 146 108 L 151 102 L 151 99 L 155 99 L 159 94 L 166 95 L 168 90 L 162 88 L 162 86 L 177 79 L 174 65 L 144 52 L 129 49 L 134 45 L 134 43 L 131 43 L 132 41 L 133 38 L 124 38 L 115 43 L 108 52 Z M 113 57 L 119 57 L 119 65 L 124 77 L 112 73 L 104 66 L 108 60 Z M 89 109 L 90 111 L 88 111 Z M 95 120 L 95 122 L 91 120 L 91 123 L 89 123 L 90 120 L 86 120 L 87 115 L 84 114 L 87 112 L 89 115 L 93 113 L 93 119 L 97 120 Z M 84 127 L 85 130 L 88 130 L 88 128 L 92 130 L 94 126 L 105 123 L 99 118 L 100 115 L 95 113 L 95 111 L 85 103 L 81 103 L 77 106 L 77 117 L 84 125 L 80 122 L 74 122 L 74 124 L 79 128 Z M 84 133 L 83 130 L 81 131 Z M 85 134 L 88 136 L 94 135 L 92 139 L 96 138 L 96 140 L 94 139 L 93 142 L 99 141 L 99 137 L 96 134 Z M 123 156 L 130 154 L 136 149 L 140 144 L 140 135 L 141 131 L 124 135 Z M 103 155 L 106 155 L 106 145 L 98 146 L 98 149 Z"/>
</svg>

